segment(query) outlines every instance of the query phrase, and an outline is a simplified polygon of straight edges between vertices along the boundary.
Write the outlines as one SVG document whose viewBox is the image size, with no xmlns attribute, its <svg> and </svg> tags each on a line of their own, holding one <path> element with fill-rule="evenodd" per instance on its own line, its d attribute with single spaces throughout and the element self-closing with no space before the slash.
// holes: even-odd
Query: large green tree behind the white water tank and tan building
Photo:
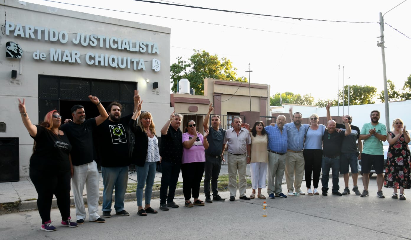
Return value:
<svg viewBox="0 0 411 240">
<path fill-rule="evenodd" d="M 178 57 L 177 62 L 171 64 L 170 70 L 173 92 L 178 91 L 177 82 L 181 78 L 190 81 L 190 87 L 194 89 L 196 95 L 204 95 L 204 78 L 247 82 L 247 78 L 236 76 L 237 69 L 233 67 L 230 59 L 222 57 L 220 60 L 217 55 L 210 55 L 205 50 L 194 49 L 194 54 L 188 62 Z"/>
</svg>

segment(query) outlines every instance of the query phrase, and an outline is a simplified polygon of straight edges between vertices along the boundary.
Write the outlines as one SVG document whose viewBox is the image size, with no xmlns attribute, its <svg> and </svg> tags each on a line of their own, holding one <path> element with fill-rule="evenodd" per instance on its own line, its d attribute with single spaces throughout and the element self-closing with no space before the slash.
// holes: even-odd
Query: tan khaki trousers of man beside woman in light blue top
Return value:
<svg viewBox="0 0 411 240">
<path fill-rule="evenodd" d="M 294 174 L 296 175 L 296 179 L 294 181 Z M 302 152 L 293 153 L 287 152 L 286 153 L 286 161 L 285 161 L 285 179 L 287 181 L 287 190 L 288 192 L 300 192 L 301 191 L 301 183 L 302 177 L 304 176 L 304 156 Z M 294 184 L 294 188 L 293 188 Z"/>
</svg>

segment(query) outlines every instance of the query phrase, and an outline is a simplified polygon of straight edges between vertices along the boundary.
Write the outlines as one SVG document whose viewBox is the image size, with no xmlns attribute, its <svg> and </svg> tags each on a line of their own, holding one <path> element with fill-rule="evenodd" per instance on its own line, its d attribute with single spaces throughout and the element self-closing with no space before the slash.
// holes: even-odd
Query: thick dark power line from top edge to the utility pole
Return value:
<svg viewBox="0 0 411 240">
<path fill-rule="evenodd" d="M 134 1 L 157 3 L 157 4 L 171 5 L 171 6 L 176 6 L 176 7 L 189 7 L 189 8 L 196 8 L 196 9 L 212 10 L 212 11 L 231 12 L 231 13 L 237 13 L 237 14 L 250 14 L 250 15 L 267 16 L 267 17 L 275 17 L 275 18 L 289 18 L 289 19 L 299 20 L 299 21 L 307 20 L 307 21 L 323 21 L 323 22 L 335 22 L 335 23 L 377 23 L 377 22 L 353 22 L 353 21 L 337 21 L 337 20 L 275 16 L 275 15 L 269 15 L 269 14 L 257 14 L 257 13 L 249 13 L 249 12 L 242 12 L 242 11 L 222 10 L 222 9 L 215 9 L 215 8 L 208 8 L 208 7 L 196 7 L 196 6 L 190 6 L 190 5 L 182 5 L 182 4 L 167 3 L 167 2 L 155 2 L 155 1 L 148 1 L 148 0 L 134 0 Z"/>
</svg>

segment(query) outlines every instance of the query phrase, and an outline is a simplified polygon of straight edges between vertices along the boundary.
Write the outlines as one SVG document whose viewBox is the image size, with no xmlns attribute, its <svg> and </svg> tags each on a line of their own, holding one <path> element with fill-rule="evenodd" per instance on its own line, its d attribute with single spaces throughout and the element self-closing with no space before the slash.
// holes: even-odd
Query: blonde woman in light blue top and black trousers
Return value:
<svg viewBox="0 0 411 240">
<path fill-rule="evenodd" d="M 318 183 L 321 174 L 321 160 L 323 157 L 322 138 L 326 130 L 326 126 L 318 124 L 319 117 L 313 113 L 310 116 L 310 123 L 304 124 L 307 128 L 304 142 L 304 163 L 305 163 L 305 183 L 307 185 L 308 195 L 319 195 Z M 314 185 L 314 192 L 311 190 L 311 174 Z"/>
</svg>

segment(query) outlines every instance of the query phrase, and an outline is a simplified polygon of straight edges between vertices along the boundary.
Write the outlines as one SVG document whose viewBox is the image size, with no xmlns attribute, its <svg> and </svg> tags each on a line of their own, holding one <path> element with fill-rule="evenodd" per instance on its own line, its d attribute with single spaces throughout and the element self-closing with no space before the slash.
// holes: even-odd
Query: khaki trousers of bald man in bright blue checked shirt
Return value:
<svg viewBox="0 0 411 240">
<path fill-rule="evenodd" d="M 281 185 L 284 177 L 286 155 L 268 152 L 268 186 L 267 193 L 278 195 L 282 192 Z"/>
</svg>

